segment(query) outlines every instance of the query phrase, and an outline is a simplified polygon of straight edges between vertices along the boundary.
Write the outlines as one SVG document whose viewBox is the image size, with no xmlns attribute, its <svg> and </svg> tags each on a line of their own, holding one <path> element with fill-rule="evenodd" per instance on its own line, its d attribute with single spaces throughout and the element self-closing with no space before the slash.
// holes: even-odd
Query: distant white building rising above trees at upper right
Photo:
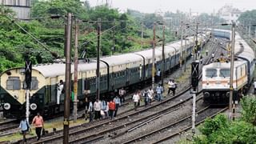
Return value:
<svg viewBox="0 0 256 144">
<path fill-rule="evenodd" d="M 237 21 L 240 14 L 242 14 L 241 10 L 234 8 L 232 5 L 225 5 L 220 10 L 218 10 L 218 14 L 220 18 L 226 20 L 226 22 L 231 23 L 232 21 Z"/>
</svg>

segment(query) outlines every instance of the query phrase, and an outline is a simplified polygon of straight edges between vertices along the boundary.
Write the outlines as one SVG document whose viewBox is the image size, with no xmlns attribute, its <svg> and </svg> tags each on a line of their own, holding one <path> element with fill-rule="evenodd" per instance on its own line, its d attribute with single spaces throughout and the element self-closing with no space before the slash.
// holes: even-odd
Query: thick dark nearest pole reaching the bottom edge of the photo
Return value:
<svg viewBox="0 0 256 144">
<path fill-rule="evenodd" d="M 63 144 L 69 143 L 69 125 L 70 125 L 70 45 L 71 45 L 71 27 L 72 14 L 67 14 L 66 22 L 66 73 L 65 73 L 65 102 L 64 102 L 64 121 L 63 121 Z"/>
</svg>

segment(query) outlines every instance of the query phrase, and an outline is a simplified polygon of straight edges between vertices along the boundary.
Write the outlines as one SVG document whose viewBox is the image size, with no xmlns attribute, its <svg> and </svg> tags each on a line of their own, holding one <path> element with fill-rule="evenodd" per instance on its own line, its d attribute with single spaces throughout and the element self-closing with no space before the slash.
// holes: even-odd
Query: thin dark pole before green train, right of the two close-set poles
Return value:
<svg viewBox="0 0 256 144">
<path fill-rule="evenodd" d="M 101 18 L 98 18 L 98 26 L 97 26 L 97 70 L 96 70 L 96 94 L 97 94 L 97 98 L 99 99 L 99 95 L 100 95 L 100 90 L 99 90 L 99 82 L 100 82 L 100 76 L 99 76 L 99 50 L 100 50 L 100 42 L 101 42 L 101 26 L 102 26 L 102 22 L 101 22 Z"/>
</svg>

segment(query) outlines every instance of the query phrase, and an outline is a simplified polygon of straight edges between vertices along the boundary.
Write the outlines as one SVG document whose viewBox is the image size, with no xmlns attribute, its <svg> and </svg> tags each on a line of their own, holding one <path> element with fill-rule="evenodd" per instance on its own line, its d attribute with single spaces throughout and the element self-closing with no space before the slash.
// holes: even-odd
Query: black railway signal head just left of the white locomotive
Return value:
<svg viewBox="0 0 256 144">
<path fill-rule="evenodd" d="M 198 87 L 198 78 L 199 78 L 199 62 L 192 62 L 191 63 L 191 86 L 196 90 Z"/>
</svg>

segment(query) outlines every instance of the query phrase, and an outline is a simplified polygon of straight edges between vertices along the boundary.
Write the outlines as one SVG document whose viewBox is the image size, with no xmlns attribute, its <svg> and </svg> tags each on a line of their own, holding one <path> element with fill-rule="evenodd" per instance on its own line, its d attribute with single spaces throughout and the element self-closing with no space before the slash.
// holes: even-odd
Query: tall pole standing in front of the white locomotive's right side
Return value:
<svg viewBox="0 0 256 144">
<path fill-rule="evenodd" d="M 235 38 L 235 22 L 232 22 L 232 39 L 231 39 L 231 61 L 230 61 L 230 120 L 233 120 L 234 110 L 232 110 L 233 102 L 233 78 L 234 78 L 234 38 Z"/>
</svg>

